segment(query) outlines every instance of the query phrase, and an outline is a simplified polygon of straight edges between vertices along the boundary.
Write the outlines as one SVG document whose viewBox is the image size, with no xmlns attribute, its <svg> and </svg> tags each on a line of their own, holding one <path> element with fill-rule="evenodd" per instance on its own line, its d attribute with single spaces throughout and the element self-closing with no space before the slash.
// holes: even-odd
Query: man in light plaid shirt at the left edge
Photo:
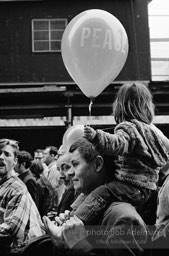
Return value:
<svg viewBox="0 0 169 256">
<path fill-rule="evenodd" d="M 44 234 L 37 207 L 14 171 L 18 152 L 17 141 L 0 139 L 0 253 L 3 256 L 11 255 Z"/>
</svg>

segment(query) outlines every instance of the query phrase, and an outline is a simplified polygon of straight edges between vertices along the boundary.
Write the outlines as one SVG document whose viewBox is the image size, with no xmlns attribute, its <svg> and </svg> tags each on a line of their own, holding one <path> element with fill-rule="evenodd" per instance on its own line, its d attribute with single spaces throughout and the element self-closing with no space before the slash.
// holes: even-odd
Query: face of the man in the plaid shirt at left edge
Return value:
<svg viewBox="0 0 169 256">
<path fill-rule="evenodd" d="M 14 148 L 6 145 L 0 149 L 0 179 L 12 171 L 17 163 Z"/>
</svg>

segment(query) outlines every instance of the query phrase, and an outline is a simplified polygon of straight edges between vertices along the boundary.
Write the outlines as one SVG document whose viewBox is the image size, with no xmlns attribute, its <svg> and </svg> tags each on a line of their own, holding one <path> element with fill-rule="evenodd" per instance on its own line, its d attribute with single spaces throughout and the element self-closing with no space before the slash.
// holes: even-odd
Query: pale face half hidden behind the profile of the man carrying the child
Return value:
<svg viewBox="0 0 169 256">
<path fill-rule="evenodd" d="M 71 177 L 69 176 L 69 169 L 71 168 L 71 154 L 65 153 L 57 159 L 57 169 L 60 172 L 60 179 L 64 181 L 66 186 L 72 185 Z"/>
</svg>

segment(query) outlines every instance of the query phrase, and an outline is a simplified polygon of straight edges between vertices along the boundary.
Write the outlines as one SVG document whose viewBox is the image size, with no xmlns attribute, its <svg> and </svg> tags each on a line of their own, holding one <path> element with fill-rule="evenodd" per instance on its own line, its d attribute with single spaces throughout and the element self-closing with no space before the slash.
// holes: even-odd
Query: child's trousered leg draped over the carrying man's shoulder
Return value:
<svg viewBox="0 0 169 256">
<path fill-rule="evenodd" d="M 85 224 L 96 224 L 112 202 L 128 202 L 137 208 L 145 200 L 147 200 L 147 195 L 141 189 L 128 183 L 114 180 L 93 190 L 74 214 Z"/>
</svg>

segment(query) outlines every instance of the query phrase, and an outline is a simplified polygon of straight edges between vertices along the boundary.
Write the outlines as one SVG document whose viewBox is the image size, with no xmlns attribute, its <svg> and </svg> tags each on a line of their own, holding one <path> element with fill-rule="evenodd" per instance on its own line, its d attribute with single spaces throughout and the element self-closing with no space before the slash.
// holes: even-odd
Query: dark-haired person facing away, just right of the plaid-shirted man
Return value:
<svg viewBox="0 0 169 256">
<path fill-rule="evenodd" d="M 38 210 L 43 217 L 53 209 L 55 191 L 50 181 L 43 174 L 43 165 L 39 160 L 33 160 L 30 171 L 38 184 L 39 203 Z"/>
</svg>

